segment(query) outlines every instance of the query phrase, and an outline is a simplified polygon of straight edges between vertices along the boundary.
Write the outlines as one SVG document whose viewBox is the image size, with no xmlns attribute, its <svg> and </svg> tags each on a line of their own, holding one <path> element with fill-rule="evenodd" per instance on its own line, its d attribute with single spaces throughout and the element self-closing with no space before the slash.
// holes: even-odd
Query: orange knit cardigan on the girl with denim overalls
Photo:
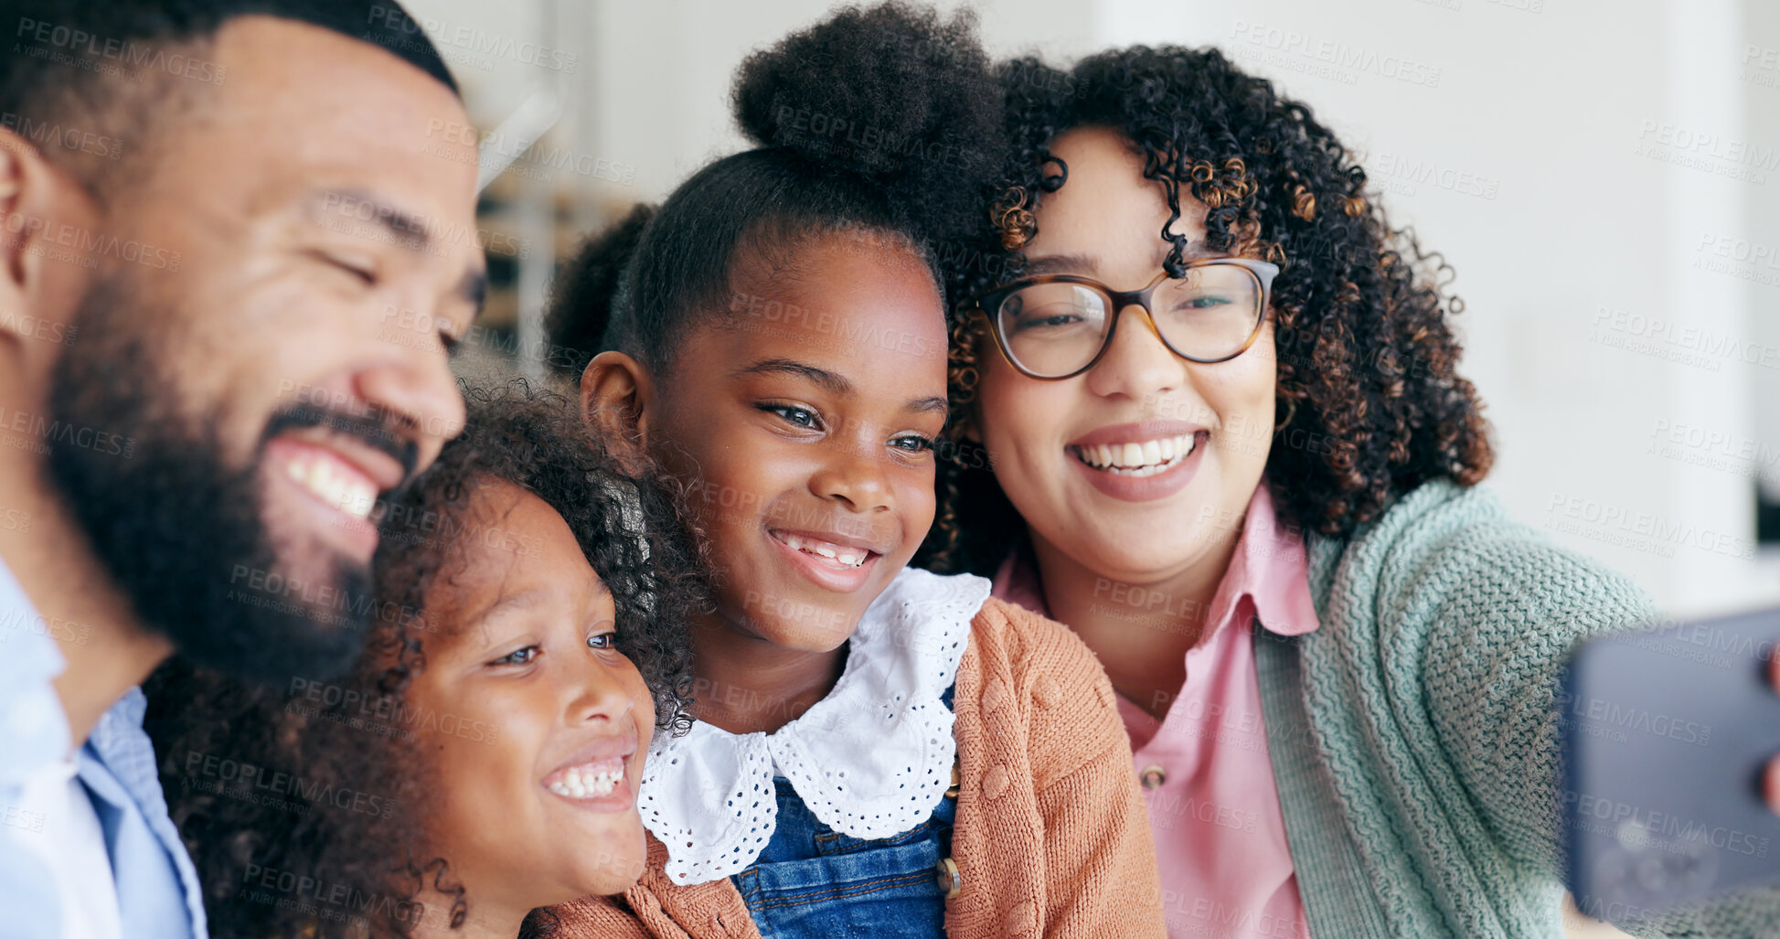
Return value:
<svg viewBox="0 0 1780 939">
<path fill-rule="evenodd" d="M 951 939 L 1164 935 L 1150 816 L 1100 661 L 1066 627 L 990 599 L 958 666 Z M 865 745 L 862 741 L 862 745 Z M 728 878 L 643 880 L 555 907 L 568 939 L 760 939 Z"/>
</svg>

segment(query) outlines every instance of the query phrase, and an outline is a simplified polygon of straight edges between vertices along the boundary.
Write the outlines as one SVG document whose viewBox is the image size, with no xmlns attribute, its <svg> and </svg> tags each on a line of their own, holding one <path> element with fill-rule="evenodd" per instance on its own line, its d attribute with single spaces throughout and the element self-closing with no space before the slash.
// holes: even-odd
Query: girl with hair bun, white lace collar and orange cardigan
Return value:
<svg viewBox="0 0 1780 939">
<path fill-rule="evenodd" d="M 584 408 L 685 481 L 719 568 L 696 722 L 643 779 L 650 871 L 559 910 L 571 935 L 1161 935 L 1093 656 L 986 579 L 904 570 L 945 424 L 924 239 L 970 212 L 984 75 L 968 20 L 897 5 L 749 59 L 760 148 L 668 198 L 616 301 L 559 301 L 557 335 L 611 306 Z"/>
</svg>

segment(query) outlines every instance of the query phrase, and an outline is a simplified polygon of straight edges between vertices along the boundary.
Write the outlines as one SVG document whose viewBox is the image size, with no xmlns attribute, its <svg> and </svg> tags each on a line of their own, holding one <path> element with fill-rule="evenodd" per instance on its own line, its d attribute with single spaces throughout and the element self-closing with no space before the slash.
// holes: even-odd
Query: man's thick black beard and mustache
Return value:
<svg viewBox="0 0 1780 939">
<path fill-rule="evenodd" d="M 335 556 L 304 565 L 326 574 L 292 577 L 279 556 L 292 549 L 274 543 L 262 513 L 263 453 L 281 429 L 326 424 L 363 437 L 381 422 L 287 408 L 251 463 L 231 469 L 219 437 L 224 408 L 206 419 L 180 413 L 178 369 L 158 355 L 169 344 L 151 339 L 171 310 L 128 280 L 103 278 L 82 299 L 78 346 L 50 378 L 50 419 L 69 428 L 48 440 L 52 485 L 139 625 L 194 665 L 263 684 L 338 675 L 363 649 L 376 609 L 370 565 Z M 400 449 L 390 433 L 374 437 L 379 449 Z M 315 542 L 310 551 L 331 549 Z"/>
</svg>

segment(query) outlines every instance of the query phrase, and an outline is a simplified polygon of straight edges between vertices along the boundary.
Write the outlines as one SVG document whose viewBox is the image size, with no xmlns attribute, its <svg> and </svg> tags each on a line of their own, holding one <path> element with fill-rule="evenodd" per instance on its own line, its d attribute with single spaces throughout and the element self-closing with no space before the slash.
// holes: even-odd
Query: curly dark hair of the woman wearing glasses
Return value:
<svg viewBox="0 0 1780 939">
<path fill-rule="evenodd" d="M 1009 146 L 1004 178 L 983 192 L 983 226 L 952 246 L 947 287 L 970 298 L 1018 278 L 1038 232 L 1034 208 L 1066 185 L 1048 146 L 1079 127 L 1123 134 L 1143 175 L 1162 184 L 1173 221 L 1205 205 L 1209 248 L 1271 260 L 1278 410 L 1267 479 L 1282 518 L 1330 536 L 1378 518 L 1417 485 L 1474 485 L 1490 470 L 1483 403 L 1454 365 L 1444 296 L 1451 267 L 1396 230 L 1367 194 L 1365 171 L 1310 114 L 1214 48 L 1104 52 L 1063 71 L 1038 59 L 1000 66 Z M 970 417 L 984 346 L 981 317 L 952 324 L 952 421 Z M 995 355 L 993 351 L 986 355 Z M 940 513 L 918 558 L 938 570 L 993 572 L 1025 529 L 968 442 L 947 447 Z"/>
</svg>

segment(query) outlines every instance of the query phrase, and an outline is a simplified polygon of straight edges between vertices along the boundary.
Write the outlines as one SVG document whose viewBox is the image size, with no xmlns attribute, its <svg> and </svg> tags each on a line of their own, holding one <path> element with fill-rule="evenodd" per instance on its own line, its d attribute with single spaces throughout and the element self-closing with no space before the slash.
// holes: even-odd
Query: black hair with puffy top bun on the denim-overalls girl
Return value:
<svg viewBox="0 0 1780 939">
<path fill-rule="evenodd" d="M 977 191 L 1000 167 L 1002 91 L 968 11 L 842 7 L 749 55 L 732 103 L 753 150 L 632 210 L 561 271 L 546 323 L 570 378 L 605 349 L 664 372 L 687 330 L 733 314 L 739 271 L 794 276 L 828 235 L 910 251 L 938 282 L 933 248 L 977 228 Z"/>
</svg>

